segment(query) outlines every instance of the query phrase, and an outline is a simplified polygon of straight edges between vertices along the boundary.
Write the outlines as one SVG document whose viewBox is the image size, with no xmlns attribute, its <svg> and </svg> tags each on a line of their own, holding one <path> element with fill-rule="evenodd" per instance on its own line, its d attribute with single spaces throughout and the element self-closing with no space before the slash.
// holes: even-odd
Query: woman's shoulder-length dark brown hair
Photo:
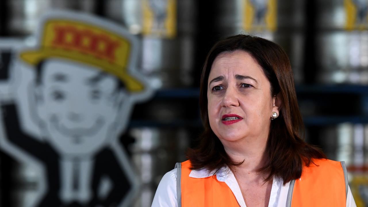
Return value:
<svg viewBox="0 0 368 207">
<path fill-rule="evenodd" d="M 209 171 L 217 170 L 224 165 L 240 165 L 231 160 L 226 154 L 219 138 L 213 133 L 208 120 L 207 87 L 208 76 L 215 58 L 222 52 L 242 50 L 248 52 L 262 67 L 263 72 L 271 85 L 271 96 L 280 94 L 282 106 L 280 115 L 272 120 L 266 153 L 269 162 L 259 169 L 267 172 L 268 181 L 277 176 L 282 178 L 284 185 L 293 179 L 298 179 L 302 173 L 302 166 L 309 166 L 313 158 L 326 158 L 323 152 L 307 144 L 304 139 L 304 125 L 300 115 L 293 71 L 289 58 L 281 46 L 263 38 L 250 35 L 230 36 L 220 40 L 212 47 L 205 60 L 199 94 L 201 119 L 204 124 L 204 133 L 199 137 L 197 148 L 189 149 L 187 157 L 192 169 L 205 167 Z"/>
</svg>

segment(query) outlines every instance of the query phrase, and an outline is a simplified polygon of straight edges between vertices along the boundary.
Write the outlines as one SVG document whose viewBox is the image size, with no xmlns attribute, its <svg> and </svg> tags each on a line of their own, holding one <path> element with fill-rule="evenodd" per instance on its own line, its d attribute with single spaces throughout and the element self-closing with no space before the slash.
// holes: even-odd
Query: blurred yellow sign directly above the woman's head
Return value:
<svg viewBox="0 0 368 207">
<path fill-rule="evenodd" d="M 243 0 L 243 29 L 246 32 L 277 29 L 276 0 Z"/>
</svg>

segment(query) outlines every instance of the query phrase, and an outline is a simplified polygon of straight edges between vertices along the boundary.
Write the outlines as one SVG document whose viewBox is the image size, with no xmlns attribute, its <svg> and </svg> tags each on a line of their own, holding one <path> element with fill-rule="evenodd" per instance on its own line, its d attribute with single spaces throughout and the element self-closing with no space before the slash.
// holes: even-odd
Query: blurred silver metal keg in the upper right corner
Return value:
<svg viewBox="0 0 368 207">
<path fill-rule="evenodd" d="M 367 1 L 316 1 L 320 83 L 368 84 Z"/>
</svg>

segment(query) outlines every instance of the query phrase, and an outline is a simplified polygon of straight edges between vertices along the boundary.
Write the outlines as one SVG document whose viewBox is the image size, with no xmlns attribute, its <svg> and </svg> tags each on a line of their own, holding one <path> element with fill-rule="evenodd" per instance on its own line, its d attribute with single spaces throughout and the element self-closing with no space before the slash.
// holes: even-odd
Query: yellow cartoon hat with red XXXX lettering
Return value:
<svg viewBox="0 0 368 207">
<path fill-rule="evenodd" d="M 43 27 L 40 48 L 22 51 L 20 57 L 32 65 L 49 57 L 60 57 L 97 66 L 119 78 L 128 91 L 139 92 L 144 85 L 127 71 L 131 47 L 122 35 L 96 25 L 49 19 Z"/>
</svg>

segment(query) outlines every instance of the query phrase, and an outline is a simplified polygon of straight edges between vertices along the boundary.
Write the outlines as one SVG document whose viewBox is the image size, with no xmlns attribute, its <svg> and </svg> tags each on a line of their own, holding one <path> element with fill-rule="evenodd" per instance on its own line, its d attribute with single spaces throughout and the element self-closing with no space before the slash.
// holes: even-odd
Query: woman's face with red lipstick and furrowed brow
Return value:
<svg viewBox="0 0 368 207">
<path fill-rule="evenodd" d="M 207 98 L 209 123 L 222 143 L 243 138 L 265 141 L 272 112 L 279 114 L 262 67 L 240 50 L 216 57 Z"/>
</svg>

